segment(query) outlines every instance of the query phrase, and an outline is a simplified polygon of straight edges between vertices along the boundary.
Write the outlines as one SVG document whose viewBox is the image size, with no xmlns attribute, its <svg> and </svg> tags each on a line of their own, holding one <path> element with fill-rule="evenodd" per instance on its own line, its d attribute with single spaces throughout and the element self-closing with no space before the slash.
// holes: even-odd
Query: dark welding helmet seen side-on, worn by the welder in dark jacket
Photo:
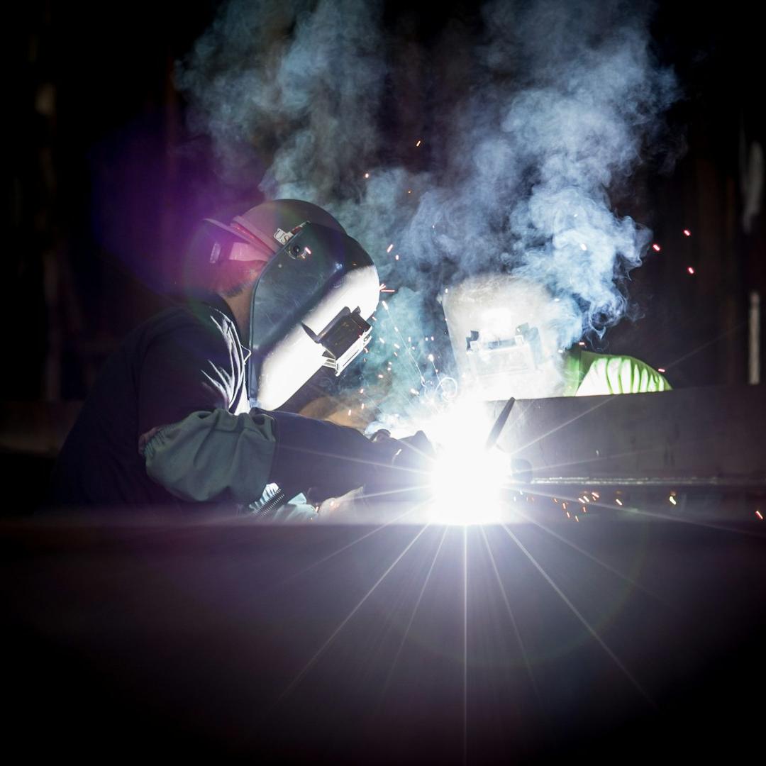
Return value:
<svg viewBox="0 0 766 766">
<path fill-rule="evenodd" d="M 322 366 L 340 375 L 368 344 L 378 306 L 378 272 L 364 248 L 301 200 L 264 202 L 231 224 L 206 224 L 221 240 L 218 257 L 267 254 L 250 306 L 250 406 L 280 407 Z"/>
</svg>

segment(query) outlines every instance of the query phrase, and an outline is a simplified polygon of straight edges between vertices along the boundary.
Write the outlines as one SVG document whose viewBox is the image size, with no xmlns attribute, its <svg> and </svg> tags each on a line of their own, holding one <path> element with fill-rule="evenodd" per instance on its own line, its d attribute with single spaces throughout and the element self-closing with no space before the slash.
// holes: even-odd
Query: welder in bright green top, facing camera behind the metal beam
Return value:
<svg viewBox="0 0 766 766">
<path fill-rule="evenodd" d="M 470 277 L 442 300 L 463 390 L 483 401 L 668 391 L 639 359 L 566 345 L 581 331 L 571 296 L 511 274 Z"/>
</svg>

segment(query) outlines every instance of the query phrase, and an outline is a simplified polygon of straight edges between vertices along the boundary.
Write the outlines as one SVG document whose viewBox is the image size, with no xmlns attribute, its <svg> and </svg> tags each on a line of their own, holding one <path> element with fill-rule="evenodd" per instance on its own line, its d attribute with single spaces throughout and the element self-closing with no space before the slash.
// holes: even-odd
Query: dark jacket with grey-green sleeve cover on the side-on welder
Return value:
<svg viewBox="0 0 766 766">
<path fill-rule="evenodd" d="M 182 506 L 362 486 L 378 457 L 362 434 L 250 410 L 234 316 L 211 296 L 133 330 L 106 362 L 54 470 L 54 504 Z"/>
</svg>

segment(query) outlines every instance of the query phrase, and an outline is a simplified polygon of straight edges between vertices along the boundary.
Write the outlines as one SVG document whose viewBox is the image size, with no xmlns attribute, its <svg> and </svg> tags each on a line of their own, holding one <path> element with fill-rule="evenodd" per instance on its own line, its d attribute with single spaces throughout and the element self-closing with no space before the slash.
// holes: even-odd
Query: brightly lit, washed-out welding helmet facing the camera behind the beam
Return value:
<svg viewBox="0 0 766 766">
<path fill-rule="evenodd" d="M 450 287 L 441 303 L 466 396 L 499 401 L 563 393 L 559 342 L 568 302 L 531 280 L 488 274 Z"/>
</svg>

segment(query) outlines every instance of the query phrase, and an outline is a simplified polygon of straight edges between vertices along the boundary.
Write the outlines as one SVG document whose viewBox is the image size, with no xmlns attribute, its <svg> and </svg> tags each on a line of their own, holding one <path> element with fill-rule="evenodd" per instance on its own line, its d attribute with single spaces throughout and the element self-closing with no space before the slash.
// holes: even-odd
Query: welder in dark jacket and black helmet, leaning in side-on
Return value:
<svg viewBox="0 0 766 766">
<path fill-rule="evenodd" d="M 203 221 L 187 263 L 189 299 L 106 362 L 57 460 L 52 502 L 311 518 L 287 501 L 401 485 L 408 440 L 278 409 L 323 365 L 340 375 L 370 338 L 378 274 L 342 225 L 306 201 L 267 201 Z"/>
</svg>

